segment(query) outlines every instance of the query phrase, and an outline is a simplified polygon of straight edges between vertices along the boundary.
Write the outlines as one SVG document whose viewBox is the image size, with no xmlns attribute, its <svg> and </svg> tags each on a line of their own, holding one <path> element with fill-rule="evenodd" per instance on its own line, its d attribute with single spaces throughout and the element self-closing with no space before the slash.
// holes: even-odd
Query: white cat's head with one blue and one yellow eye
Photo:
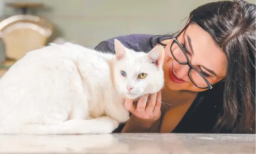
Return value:
<svg viewBox="0 0 256 154">
<path fill-rule="evenodd" d="M 115 51 L 113 74 L 120 95 L 136 99 L 161 90 L 164 85 L 163 47 L 157 46 L 149 53 L 135 52 L 115 39 Z"/>
</svg>

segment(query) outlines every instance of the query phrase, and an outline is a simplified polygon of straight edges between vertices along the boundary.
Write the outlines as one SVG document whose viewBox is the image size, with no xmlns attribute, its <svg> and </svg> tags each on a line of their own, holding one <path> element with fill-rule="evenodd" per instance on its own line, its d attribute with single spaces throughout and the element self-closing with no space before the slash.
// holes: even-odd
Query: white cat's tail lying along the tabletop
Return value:
<svg viewBox="0 0 256 154">
<path fill-rule="evenodd" d="M 27 124 L 20 127 L 0 128 L 1 134 L 98 134 L 112 133 L 118 122 L 110 117 L 90 120 L 71 119 L 54 125 Z"/>
</svg>

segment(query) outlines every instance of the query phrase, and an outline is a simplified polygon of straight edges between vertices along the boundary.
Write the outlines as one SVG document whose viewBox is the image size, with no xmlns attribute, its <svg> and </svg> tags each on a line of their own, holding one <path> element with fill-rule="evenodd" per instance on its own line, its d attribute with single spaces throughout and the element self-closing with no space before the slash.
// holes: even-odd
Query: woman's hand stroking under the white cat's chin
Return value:
<svg viewBox="0 0 256 154">
<path fill-rule="evenodd" d="M 137 106 L 133 105 L 133 100 L 126 99 L 124 107 L 133 115 L 130 120 L 138 120 L 145 127 L 151 127 L 161 116 L 161 92 L 140 97 Z"/>
</svg>

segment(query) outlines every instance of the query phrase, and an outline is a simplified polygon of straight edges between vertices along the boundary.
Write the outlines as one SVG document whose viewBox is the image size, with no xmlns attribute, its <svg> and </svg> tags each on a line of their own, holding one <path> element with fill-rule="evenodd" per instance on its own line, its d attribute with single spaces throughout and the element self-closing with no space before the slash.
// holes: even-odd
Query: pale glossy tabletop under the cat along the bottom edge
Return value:
<svg viewBox="0 0 256 154">
<path fill-rule="evenodd" d="M 0 135 L 0 153 L 255 154 L 255 134 Z"/>
</svg>

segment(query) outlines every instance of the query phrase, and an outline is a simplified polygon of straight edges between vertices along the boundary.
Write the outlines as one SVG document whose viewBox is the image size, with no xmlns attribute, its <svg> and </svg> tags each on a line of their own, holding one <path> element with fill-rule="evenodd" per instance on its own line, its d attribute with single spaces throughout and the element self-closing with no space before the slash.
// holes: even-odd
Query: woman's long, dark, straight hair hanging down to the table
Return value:
<svg viewBox="0 0 256 154">
<path fill-rule="evenodd" d="M 243 0 L 218 1 L 197 7 L 189 16 L 190 24 L 208 32 L 227 57 L 225 81 L 203 92 L 207 96 L 215 92 L 223 101 L 216 133 L 255 133 L 255 8 L 256 5 Z M 157 42 L 166 36 L 159 37 Z"/>
</svg>

